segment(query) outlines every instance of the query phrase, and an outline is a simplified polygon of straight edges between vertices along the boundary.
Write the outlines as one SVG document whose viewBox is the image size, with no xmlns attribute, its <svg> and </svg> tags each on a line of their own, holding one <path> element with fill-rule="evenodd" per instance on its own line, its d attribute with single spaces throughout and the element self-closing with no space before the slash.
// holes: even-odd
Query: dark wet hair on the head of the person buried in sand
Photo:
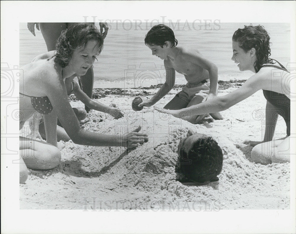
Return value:
<svg viewBox="0 0 296 234">
<path fill-rule="evenodd" d="M 204 183 L 221 173 L 223 153 L 212 137 L 198 139 L 188 154 L 182 148 L 176 172 L 183 174 L 186 179 Z"/>
</svg>

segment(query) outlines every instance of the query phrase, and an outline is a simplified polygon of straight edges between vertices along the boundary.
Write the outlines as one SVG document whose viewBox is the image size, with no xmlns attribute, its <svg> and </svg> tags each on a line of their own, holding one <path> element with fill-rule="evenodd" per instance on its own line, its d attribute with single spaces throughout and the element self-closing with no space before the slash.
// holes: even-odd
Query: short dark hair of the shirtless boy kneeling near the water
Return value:
<svg viewBox="0 0 296 234">
<path fill-rule="evenodd" d="M 164 24 L 153 26 L 145 36 L 145 45 L 160 45 L 163 47 L 166 41 L 171 42 L 173 44 L 172 47 L 178 44 L 173 30 Z"/>
</svg>

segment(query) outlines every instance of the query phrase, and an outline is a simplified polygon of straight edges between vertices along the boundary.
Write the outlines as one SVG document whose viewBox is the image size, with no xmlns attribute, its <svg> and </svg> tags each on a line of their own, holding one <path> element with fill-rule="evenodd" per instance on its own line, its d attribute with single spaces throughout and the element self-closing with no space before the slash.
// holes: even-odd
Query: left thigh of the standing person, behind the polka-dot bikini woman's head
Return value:
<svg viewBox="0 0 296 234">
<path fill-rule="evenodd" d="M 56 49 L 57 39 L 67 29 L 67 23 L 39 23 L 39 28 L 46 43 L 47 51 Z"/>
</svg>

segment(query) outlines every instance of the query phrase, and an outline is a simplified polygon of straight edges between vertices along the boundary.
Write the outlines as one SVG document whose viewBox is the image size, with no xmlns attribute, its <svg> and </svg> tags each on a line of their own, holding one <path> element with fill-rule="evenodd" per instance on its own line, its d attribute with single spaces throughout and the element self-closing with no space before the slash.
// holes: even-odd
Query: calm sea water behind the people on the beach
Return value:
<svg viewBox="0 0 296 234">
<path fill-rule="evenodd" d="M 231 61 L 231 38 L 238 28 L 249 23 L 210 24 L 167 24 L 178 45 L 196 48 L 218 66 L 218 79 L 247 79 L 252 73 L 240 72 Z M 258 25 L 258 23 L 253 23 Z M 271 37 L 271 58 L 284 66 L 290 62 L 290 25 L 288 23 L 260 23 Z M 96 25 L 99 27 L 99 25 Z M 163 61 L 152 56 L 144 44 L 144 38 L 153 25 L 109 24 L 110 30 L 104 41 L 104 49 L 94 63 L 94 87 L 145 87 L 165 81 Z M 20 66 L 47 51 L 40 31 L 35 29 L 34 37 L 26 23 L 20 24 Z M 176 84 L 185 84 L 183 75 L 176 73 Z"/>
</svg>

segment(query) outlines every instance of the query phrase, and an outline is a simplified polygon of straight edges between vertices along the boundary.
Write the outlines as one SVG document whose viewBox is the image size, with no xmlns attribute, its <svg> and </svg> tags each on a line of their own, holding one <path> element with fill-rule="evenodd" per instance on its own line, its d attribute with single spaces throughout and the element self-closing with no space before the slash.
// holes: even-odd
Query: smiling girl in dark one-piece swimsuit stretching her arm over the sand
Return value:
<svg viewBox="0 0 296 234">
<path fill-rule="evenodd" d="M 182 119 L 188 117 L 184 113 L 200 115 L 219 112 L 239 103 L 262 89 L 266 103 L 266 130 L 262 142 L 257 144 L 251 153 L 255 163 L 289 162 L 290 161 L 290 81 L 272 76 L 273 72 L 282 70 L 282 77 L 288 73 L 281 64 L 275 66 L 275 60 L 270 56 L 269 35 L 263 26 L 245 26 L 234 32 L 232 37 L 232 60 L 238 63 L 240 71 L 252 71 L 255 73 L 239 89 L 218 96 L 207 102 L 190 106 L 181 110 L 166 110 L 155 107 L 157 111 L 172 114 Z M 289 77 L 289 76 L 288 76 Z M 285 89 L 282 89 L 285 87 Z M 287 136 L 272 141 L 277 116 L 280 114 L 287 125 Z M 281 152 L 280 154 L 278 152 Z"/>
</svg>

